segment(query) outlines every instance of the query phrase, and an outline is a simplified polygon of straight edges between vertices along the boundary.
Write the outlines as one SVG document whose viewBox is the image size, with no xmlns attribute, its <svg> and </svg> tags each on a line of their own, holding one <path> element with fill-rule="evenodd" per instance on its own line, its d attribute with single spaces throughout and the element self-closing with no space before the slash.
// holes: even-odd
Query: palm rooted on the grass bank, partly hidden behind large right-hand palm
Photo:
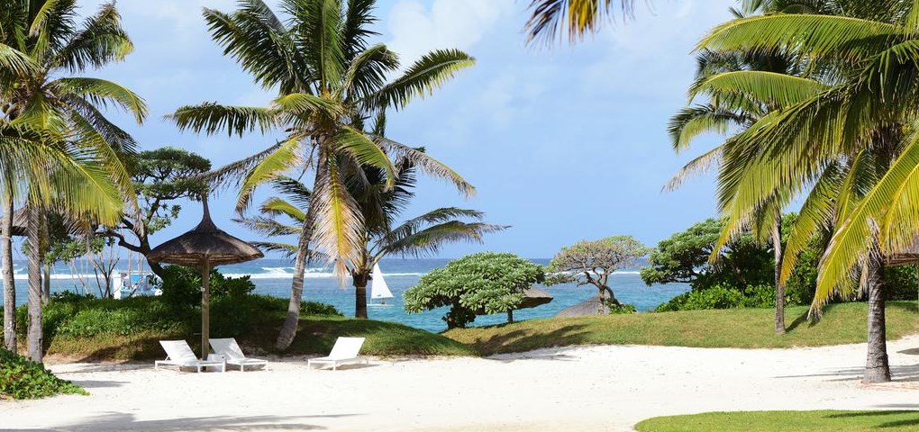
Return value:
<svg viewBox="0 0 919 432">
<path fill-rule="evenodd" d="M 811 3 L 812 5 L 809 5 L 806 11 L 832 12 L 832 9 L 825 8 L 826 2 L 814 1 Z M 743 11 L 732 8 L 732 15 L 740 19 L 751 14 L 802 12 L 802 3 L 799 1 L 773 1 L 747 5 L 747 7 L 749 9 Z M 708 103 L 688 106 L 671 119 L 669 131 L 674 150 L 676 152 L 686 150 L 692 139 L 704 133 L 725 134 L 731 130 L 745 130 L 754 126 L 768 113 L 800 102 L 802 97 L 817 94 L 827 88 L 827 85 L 817 80 L 801 77 L 800 75 L 805 71 L 805 62 L 782 52 L 701 50 L 698 54 L 696 82 L 689 91 L 689 102 L 691 104 L 694 100 L 705 96 L 708 98 Z M 777 94 L 763 91 L 764 88 L 778 85 L 795 89 L 796 92 Z M 708 170 L 714 163 L 722 159 L 725 146 L 727 144 L 709 150 L 690 161 L 665 186 L 665 189 L 673 190 L 682 184 L 686 176 Z M 743 228 L 752 225 L 754 235 L 759 241 L 771 241 L 772 243 L 776 269 L 775 327 L 777 334 L 785 333 L 785 282 L 781 278 L 783 259 L 781 215 L 782 208 L 788 204 L 788 201 L 788 194 L 775 194 L 770 200 L 764 201 L 762 205 L 755 208 L 750 215 L 744 215 L 744 223 L 738 224 L 738 227 Z M 735 228 L 729 232 L 739 235 L 739 231 L 740 229 Z M 723 245 L 726 242 L 722 239 L 720 243 Z M 712 256 L 719 257 L 720 254 L 716 252 Z"/>
</svg>

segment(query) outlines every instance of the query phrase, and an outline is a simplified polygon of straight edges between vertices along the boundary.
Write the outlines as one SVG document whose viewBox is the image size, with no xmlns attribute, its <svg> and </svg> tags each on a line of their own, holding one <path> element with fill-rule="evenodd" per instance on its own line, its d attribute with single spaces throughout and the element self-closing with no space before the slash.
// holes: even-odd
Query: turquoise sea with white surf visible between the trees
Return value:
<svg viewBox="0 0 919 432">
<path fill-rule="evenodd" d="M 545 265 L 549 260 L 533 260 L 534 262 Z M 369 305 L 368 315 L 370 319 L 381 321 L 394 321 L 407 326 L 422 328 L 431 332 L 443 331 L 447 328 L 441 316 L 446 314 L 448 308 L 440 308 L 432 311 L 426 311 L 420 314 L 406 314 L 403 309 L 402 294 L 405 290 L 414 286 L 418 279 L 426 272 L 446 265 L 448 260 L 431 259 L 431 260 L 382 260 L 380 269 L 383 272 L 389 288 L 394 295 L 387 301 L 388 305 Z M 84 274 L 84 279 L 88 282 L 89 292 L 98 293 L 96 277 L 92 271 L 79 271 Z M 255 282 L 256 294 L 274 295 L 282 298 L 288 298 L 290 293 L 290 280 L 293 275 L 292 262 L 290 260 L 273 260 L 263 259 L 241 264 L 221 266 L 221 273 L 226 276 L 244 276 L 249 275 Z M 26 263 L 17 262 L 15 266 L 17 282 L 17 305 L 23 305 L 27 302 L 26 287 Z M 116 273 L 127 271 L 127 268 L 119 266 Z M 83 292 L 82 283 L 78 282 L 73 271 L 66 265 L 58 264 L 51 271 L 51 292 L 61 291 L 79 291 Z M 101 278 L 100 278 L 101 279 Z M 647 286 L 641 282 L 638 271 L 618 271 L 610 278 L 610 285 L 613 292 L 616 293 L 619 301 L 635 305 L 639 311 L 652 310 L 675 295 L 686 293 L 689 290 L 685 283 L 668 283 L 664 285 Z M 350 280 L 347 281 L 350 283 Z M 545 288 L 552 296 L 553 300 L 547 305 L 523 309 L 514 312 L 515 320 L 524 320 L 531 318 L 545 318 L 555 315 L 565 307 L 576 305 L 591 296 L 596 295 L 596 289 L 592 286 L 577 287 L 572 284 L 556 285 Z M 338 280 L 327 268 L 311 268 L 306 273 L 306 281 L 303 289 L 303 300 L 322 302 L 335 307 L 346 316 L 354 315 L 354 291 L 350 285 L 344 287 L 338 284 Z M 0 305 L 3 299 L 0 299 Z M 505 314 L 496 314 L 491 316 L 478 316 L 473 326 L 486 326 L 500 324 L 506 321 Z"/>
</svg>

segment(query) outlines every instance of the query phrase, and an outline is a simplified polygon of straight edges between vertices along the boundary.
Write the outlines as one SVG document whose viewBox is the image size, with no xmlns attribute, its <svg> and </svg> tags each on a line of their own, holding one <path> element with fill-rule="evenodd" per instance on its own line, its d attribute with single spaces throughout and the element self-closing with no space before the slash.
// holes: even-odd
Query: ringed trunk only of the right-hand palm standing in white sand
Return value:
<svg viewBox="0 0 919 432">
<path fill-rule="evenodd" d="M 872 256 L 868 260 L 868 362 L 862 382 L 891 381 L 891 366 L 887 360 L 883 271 L 883 258 Z"/>
</svg>

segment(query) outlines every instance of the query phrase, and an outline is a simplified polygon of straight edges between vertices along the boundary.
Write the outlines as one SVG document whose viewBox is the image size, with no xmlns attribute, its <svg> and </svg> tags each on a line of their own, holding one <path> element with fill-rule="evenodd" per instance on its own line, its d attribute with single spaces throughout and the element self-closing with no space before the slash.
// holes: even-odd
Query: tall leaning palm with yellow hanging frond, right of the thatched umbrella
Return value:
<svg viewBox="0 0 919 432">
<path fill-rule="evenodd" d="M 346 3 L 346 4 L 345 4 Z M 360 253 L 363 217 L 348 194 L 343 168 L 373 166 L 395 182 L 390 158 L 408 158 L 421 172 L 446 179 L 461 194 L 474 189 L 446 165 L 389 138 L 365 131 L 366 119 L 400 109 L 433 92 L 474 60 L 459 50 L 435 50 L 394 80 L 398 56 L 385 45 L 370 46 L 375 0 L 282 0 L 281 20 L 261 0 L 243 0 L 232 14 L 206 9 L 211 37 L 265 89 L 278 91 L 267 107 L 203 104 L 179 108 L 171 118 L 181 129 L 243 135 L 281 129 L 277 144 L 211 175 L 216 183 L 244 173 L 237 210 L 255 188 L 294 170 L 312 171 L 311 226 L 301 232 L 294 263 L 287 319 L 276 347 L 286 349 L 297 333 L 303 272 L 310 245 L 335 261 L 342 282 L 346 262 Z M 238 178 L 238 177 L 236 177 Z"/>
</svg>

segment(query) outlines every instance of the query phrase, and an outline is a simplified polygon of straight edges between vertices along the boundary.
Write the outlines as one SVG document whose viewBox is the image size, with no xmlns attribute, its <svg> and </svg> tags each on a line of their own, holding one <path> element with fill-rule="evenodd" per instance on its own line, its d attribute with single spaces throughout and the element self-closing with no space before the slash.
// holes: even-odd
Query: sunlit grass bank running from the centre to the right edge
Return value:
<svg viewBox="0 0 919 432">
<path fill-rule="evenodd" d="M 887 337 L 919 332 L 914 302 L 889 302 Z M 807 307 L 786 310 L 787 334 L 773 331 L 773 309 L 722 309 L 614 316 L 531 319 L 493 327 L 458 328 L 444 336 L 483 355 L 572 345 L 661 345 L 700 348 L 792 348 L 864 342 L 864 303 L 826 307 L 823 319 L 807 320 Z"/>
</svg>

